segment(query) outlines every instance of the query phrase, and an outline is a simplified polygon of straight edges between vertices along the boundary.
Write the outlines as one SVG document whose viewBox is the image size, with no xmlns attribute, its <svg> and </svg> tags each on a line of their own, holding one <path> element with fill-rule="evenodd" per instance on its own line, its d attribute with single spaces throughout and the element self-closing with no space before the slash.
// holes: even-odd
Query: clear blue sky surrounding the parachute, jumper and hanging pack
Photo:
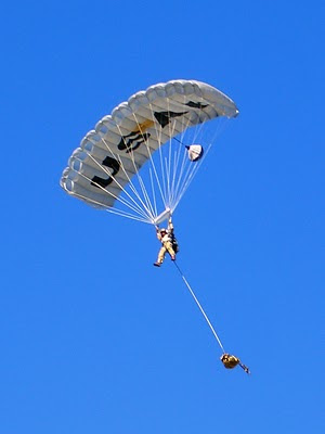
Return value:
<svg viewBox="0 0 325 434">
<path fill-rule="evenodd" d="M 3 434 L 323 433 L 324 2 L 46 1 L 2 7 Z M 323 38 L 323 39 L 322 39 Z M 209 82 L 240 115 L 153 229 L 58 186 L 133 92 Z"/>
</svg>

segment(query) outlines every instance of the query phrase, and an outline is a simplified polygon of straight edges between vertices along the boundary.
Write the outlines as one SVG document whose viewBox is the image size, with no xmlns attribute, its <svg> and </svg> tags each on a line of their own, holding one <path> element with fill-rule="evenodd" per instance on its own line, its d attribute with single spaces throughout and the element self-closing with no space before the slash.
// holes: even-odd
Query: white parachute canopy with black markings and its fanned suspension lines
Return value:
<svg viewBox="0 0 325 434">
<path fill-rule="evenodd" d="M 202 145 L 192 144 L 197 131 L 207 120 L 237 114 L 229 97 L 200 81 L 151 86 L 84 136 L 61 186 L 89 205 L 156 225 L 174 212 L 203 161 Z"/>
</svg>

